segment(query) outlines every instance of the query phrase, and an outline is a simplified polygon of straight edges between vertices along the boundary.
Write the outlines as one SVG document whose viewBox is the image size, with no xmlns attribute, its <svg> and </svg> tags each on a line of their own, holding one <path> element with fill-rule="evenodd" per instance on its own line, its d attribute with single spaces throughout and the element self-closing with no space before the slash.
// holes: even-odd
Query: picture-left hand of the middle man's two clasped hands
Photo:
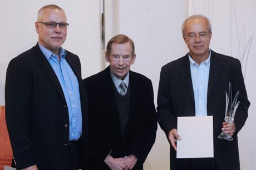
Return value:
<svg viewBox="0 0 256 170">
<path fill-rule="evenodd" d="M 123 170 L 125 168 L 124 158 L 113 158 L 108 154 L 104 162 L 111 170 Z"/>
</svg>

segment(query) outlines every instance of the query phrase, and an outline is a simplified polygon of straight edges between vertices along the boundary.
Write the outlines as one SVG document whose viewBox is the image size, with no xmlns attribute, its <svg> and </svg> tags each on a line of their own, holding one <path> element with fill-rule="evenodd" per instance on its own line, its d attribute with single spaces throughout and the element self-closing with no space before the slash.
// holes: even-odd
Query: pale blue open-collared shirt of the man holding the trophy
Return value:
<svg viewBox="0 0 256 170">
<path fill-rule="evenodd" d="M 195 116 L 207 116 L 207 91 L 210 72 L 210 56 L 211 51 L 208 59 L 198 65 L 189 55 L 190 71 L 195 98 Z"/>
</svg>

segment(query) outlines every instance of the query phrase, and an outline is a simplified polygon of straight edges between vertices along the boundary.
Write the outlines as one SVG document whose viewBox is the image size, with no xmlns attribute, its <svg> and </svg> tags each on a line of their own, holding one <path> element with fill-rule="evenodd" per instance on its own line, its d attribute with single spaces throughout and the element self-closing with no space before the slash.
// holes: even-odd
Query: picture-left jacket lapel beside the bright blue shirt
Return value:
<svg viewBox="0 0 256 170">
<path fill-rule="evenodd" d="M 65 101 L 65 103 L 66 103 L 66 99 L 65 99 L 64 93 L 62 91 L 61 84 L 58 81 L 58 78 L 57 78 L 55 72 L 53 71 L 51 64 L 47 61 L 46 57 L 41 52 L 41 49 L 39 48 L 38 44 L 36 45 L 36 57 L 38 59 L 40 59 L 40 62 L 39 62 L 40 66 L 42 67 L 43 71 L 46 73 L 46 76 L 52 82 L 53 87 L 56 88 L 57 92 L 60 94 L 63 101 Z"/>
</svg>

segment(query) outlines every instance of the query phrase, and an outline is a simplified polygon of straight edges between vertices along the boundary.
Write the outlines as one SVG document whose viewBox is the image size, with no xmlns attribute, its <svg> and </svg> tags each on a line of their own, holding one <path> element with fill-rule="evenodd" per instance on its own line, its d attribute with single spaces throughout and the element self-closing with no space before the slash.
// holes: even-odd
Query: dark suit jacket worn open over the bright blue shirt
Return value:
<svg viewBox="0 0 256 170">
<path fill-rule="evenodd" d="M 87 143 L 87 94 L 78 56 L 66 60 L 80 86 L 83 135 Z M 41 169 L 66 169 L 69 141 L 67 103 L 58 78 L 38 44 L 12 59 L 6 75 L 6 123 L 17 169 L 36 164 Z M 78 144 L 81 144 L 79 143 Z M 86 146 L 81 154 L 86 156 Z M 81 157 L 80 157 L 81 158 Z M 85 158 L 83 162 L 85 162 Z"/>
</svg>

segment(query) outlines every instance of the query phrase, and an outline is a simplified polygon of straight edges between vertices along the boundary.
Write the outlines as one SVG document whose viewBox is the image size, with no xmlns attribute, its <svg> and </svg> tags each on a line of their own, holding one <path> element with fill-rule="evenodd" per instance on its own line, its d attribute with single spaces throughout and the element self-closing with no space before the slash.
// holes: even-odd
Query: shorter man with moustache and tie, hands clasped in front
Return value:
<svg viewBox="0 0 256 170">
<path fill-rule="evenodd" d="M 130 71 L 134 42 L 119 34 L 106 48 L 104 71 L 84 79 L 88 92 L 88 169 L 143 169 L 156 137 L 150 79 Z"/>
</svg>

